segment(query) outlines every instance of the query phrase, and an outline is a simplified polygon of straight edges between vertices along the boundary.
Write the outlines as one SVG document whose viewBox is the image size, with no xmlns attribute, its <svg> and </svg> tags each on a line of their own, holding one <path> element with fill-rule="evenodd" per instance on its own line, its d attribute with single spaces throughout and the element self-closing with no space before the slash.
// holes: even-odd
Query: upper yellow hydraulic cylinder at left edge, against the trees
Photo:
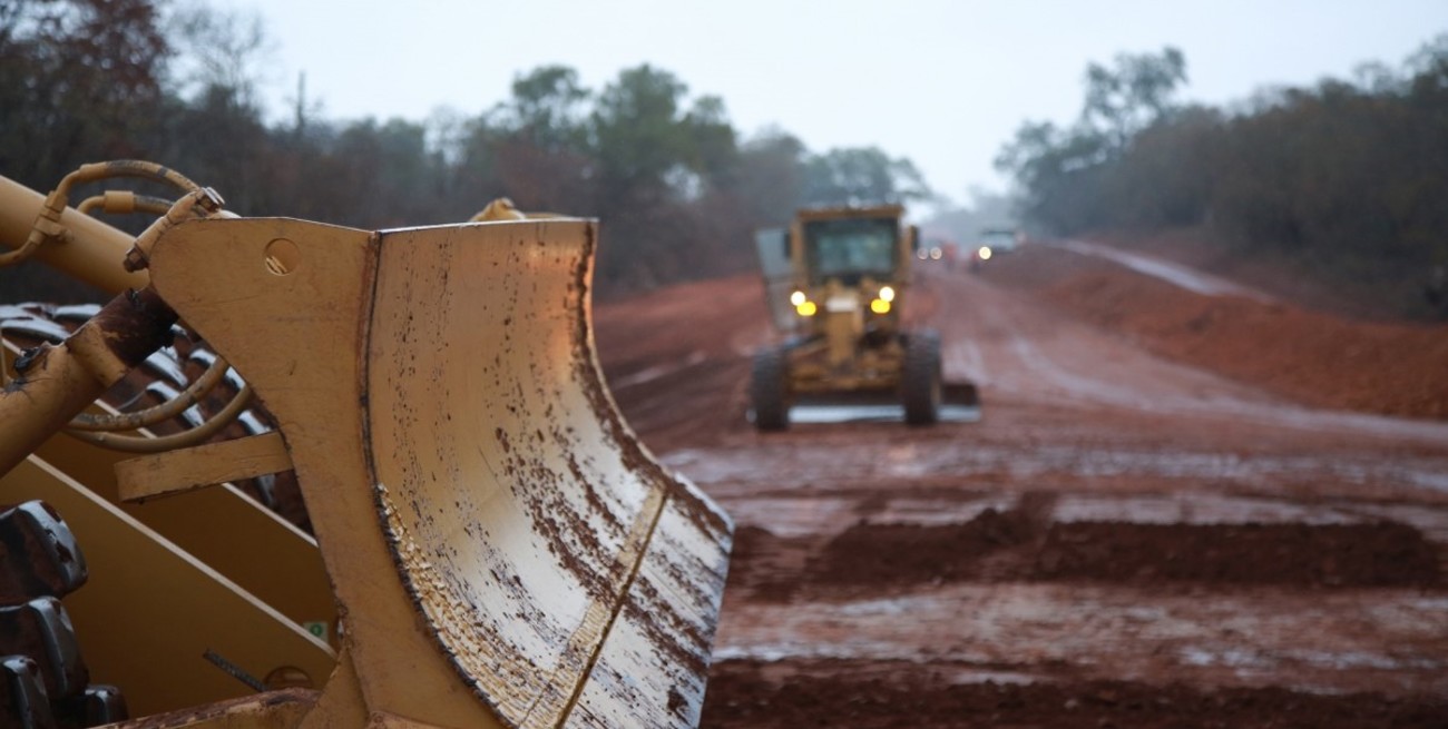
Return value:
<svg viewBox="0 0 1448 729">
<path fill-rule="evenodd" d="M 19 249 L 30 236 L 45 195 L 0 176 L 0 246 Z M 146 272 L 127 272 L 122 263 L 132 237 L 75 208 L 65 208 L 61 224 L 70 230 L 64 242 L 41 246 L 35 257 L 107 294 L 145 288 Z"/>
</svg>

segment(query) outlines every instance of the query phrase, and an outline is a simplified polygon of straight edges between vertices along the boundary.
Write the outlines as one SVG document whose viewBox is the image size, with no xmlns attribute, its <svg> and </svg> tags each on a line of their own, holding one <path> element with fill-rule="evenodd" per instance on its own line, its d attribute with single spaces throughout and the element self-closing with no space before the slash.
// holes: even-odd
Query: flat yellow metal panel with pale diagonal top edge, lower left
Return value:
<svg viewBox="0 0 1448 729">
<path fill-rule="evenodd" d="M 0 495 L 45 500 L 71 526 L 90 579 L 65 609 L 91 680 L 120 686 L 133 715 L 253 693 L 209 651 L 256 678 L 333 670 L 326 644 L 42 459 L 0 477 Z"/>
</svg>

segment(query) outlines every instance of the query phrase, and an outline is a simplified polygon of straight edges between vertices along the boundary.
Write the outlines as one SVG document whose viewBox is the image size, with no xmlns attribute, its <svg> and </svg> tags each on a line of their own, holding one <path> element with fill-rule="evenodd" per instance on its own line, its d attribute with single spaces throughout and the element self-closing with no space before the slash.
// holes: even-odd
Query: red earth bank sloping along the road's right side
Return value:
<svg viewBox="0 0 1448 729">
<path fill-rule="evenodd" d="M 1448 327 L 1380 324 L 1239 297 L 1205 297 L 1058 249 L 988 272 L 1156 354 L 1305 405 L 1448 418 Z"/>
</svg>

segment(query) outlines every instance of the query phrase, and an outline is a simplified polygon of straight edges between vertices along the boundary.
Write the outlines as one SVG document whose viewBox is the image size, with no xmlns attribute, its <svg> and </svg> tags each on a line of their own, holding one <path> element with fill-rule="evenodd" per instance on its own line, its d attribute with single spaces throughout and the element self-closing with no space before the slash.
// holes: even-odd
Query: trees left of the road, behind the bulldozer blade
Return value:
<svg viewBox="0 0 1448 729">
<path fill-rule="evenodd" d="M 508 197 L 601 218 L 604 295 L 749 270 L 753 230 L 796 207 L 931 195 L 876 146 L 746 139 L 723 100 L 650 65 L 598 90 L 536 68 L 476 116 L 337 122 L 297 98 L 268 123 L 255 81 L 268 43 L 256 17 L 200 6 L 0 0 L 0 174 L 45 192 L 85 162 L 149 159 L 243 216 L 361 229 L 458 223 Z M 38 266 L 0 272 L 6 299 L 96 298 Z"/>
</svg>

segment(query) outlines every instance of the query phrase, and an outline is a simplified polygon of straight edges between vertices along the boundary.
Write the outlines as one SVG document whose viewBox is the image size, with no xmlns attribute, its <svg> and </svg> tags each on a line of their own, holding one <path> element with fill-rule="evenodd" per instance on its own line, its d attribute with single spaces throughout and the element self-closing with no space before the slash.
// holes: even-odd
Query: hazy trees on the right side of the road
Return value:
<svg viewBox="0 0 1448 729">
<path fill-rule="evenodd" d="M 1182 106 L 1174 49 L 1092 64 L 1079 120 L 996 159 L 1045 236 L 1179 231 L 1270 256 L 1365 310 L 1448 318 L 1448 35 L 1400 68 Z"/>
</svg>

